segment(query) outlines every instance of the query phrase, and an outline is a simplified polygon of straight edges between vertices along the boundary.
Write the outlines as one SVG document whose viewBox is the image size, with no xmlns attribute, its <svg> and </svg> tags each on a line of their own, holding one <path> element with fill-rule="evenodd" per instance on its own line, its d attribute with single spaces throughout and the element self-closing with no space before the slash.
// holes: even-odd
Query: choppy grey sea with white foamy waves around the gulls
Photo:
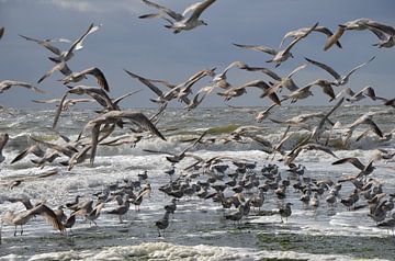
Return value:
<svg viewBox="0 0 395 261">
<path fill-rule="evenodd" d="M 253 109 L 262 110 L 262 109 Z M 279 107 L 271 117 L 284 121 L 301 113 L 326 112 L 330 107 Z M 146 115 L 153 115 L 155 110 L 140 110 Z M 340 107 L 332 122 L 340 121 L 347 125 L 360 115 L 372 111 L 377 112 L 374 121 L 383 133 L 394 128 L 394 110 L 382 106 Z M 26 146 L 32 145 L 30 136 L 50 143 L 61 144 L 61 139 L 50 129 L 54 111 L 13 111 L 13 116 L 1 114 L 0 133 L 8 133 L 10 140 L 3 149 L 5 161 L 0 164 L 0 214 L 8 209 L 21 212 L 21 203 L 10 203 L 7 197 L 29 196 L 33 203 L 45 200 L 46 205 L 56 208 L 66 202 L 71 202 L 76 195 L 83 200 L 94 200 L 94 193 L 102 192 L 113 184 L 123 184 L 124 180 L 138 180 L 138 174 L 147 171 L 148 182 L 153 188 L 150 196 L 145 196 L 140 211 L 131 209 L 120 223 L 116 216 L 105 212 L 116 207 L 115 202 L 108 202 L 102 214 L 97 219 L 98 226 L 91 225 L 77 217 L 72 231 L 59 234 L 48 225 L 42 216 L 32 218 L 23 226 L 23 235 L 13 236 L 14 227 L 3 225 L 1 229 L 0 256 L 2 260 L 350 260 L 350 259 L 395 259 L 395 236 L 391 228 L 382 228 L 369 216 L 366 202 L 361 198 L 353 211 L 338 202 L 336 206 L 328 206 L 325 202 L 327 191 L 319 198 L 316 209 L 306 207 L 300 201 L 301 193 L 292 188 L 296 181 L 291 179 L 291 186 L 286 196 L 278 200 L 273 191 L 268 191 L 260 209 L 251 209 L 240 223 L 225 219 L 225 215 L 235 208 L 224 209 L 211 198 L 202 200 L 196 195 L 184 196 L 177 203 L 174 215 L 170 216 L 170 225 L 161 231 L 155 222 L 165 213 L 163 205 L 171 202 L 171 197 L 159 191 L 159 188 L 170 182 L 165 173 L 171 169 L 165 154 L 149 154 L 144 149 L 180 152 L 190 143 L 182 140 L 198 137 L 200 133 L 208 129 L 204 138 L 215 137 L 212 144 L 198 144 L 189 152 L 203 159 L 215 156 L 227 156 L 239 161 L 257 162 L 253 170 L 263 183 L 266 178 L 260 169 L 268 163 L 279 166 L 281 177 L 290 177 L 289 167 L 279 161 L 280 155 L 268 155 L 262 151 L 261 145 L 249 139 L 240 143 L 224 141 L 229 134 L 240 126 L 258 126 L 257 134 L 262 135 L 272 144 L 279 143 L 285 125 L 276 125 L 269 120 L 258 123 L 253 115 L 242 110 L 230 107 L 196 109 L 185 112 L 169 109 L 158 128 L 167 137 L 167 141 L 146 135 L 135 147 L 129 144 L 121 146 L 99 146 L 93 167 L 88 162 L 79 163 L 70 171 L 59 164 L 61 158 L 56 159 L 43 168 L 31 162 L 36 157 L 27 156 L 23 160 L 10 164 L 11 160 Z M 59 121 L 58 130 L 75 139 L 84 124 L 94 117 L 92 112 L 65 112 Z M 308 121 L 314 126 L 317 120 Z M 394 149 L 394 139 L 380 140 L 370 134 L 361 140 L 356 140 L 365 126 L 356 129 L 348 147 L 340 146 L 341 129 L 334 133 L 330 143 L 338 158 L 358 157 L 366 163 L 376 154 L 377 148 Z M 124 135 L 127 127 L 117 128 L 112 137 Z M 292 138 L 284 144 L 285 150 L 291 150 L 307 135 L 307 130 L 291 128 Z M 131 133 L 131 132 L 128 132 Z M 90 136 L 89 132 L 84 133 Z M 325 136 L 325 135 L 324 135 Z M 110 139 L 110 138 L 109 138 Z M 337 159 L 328 154 L 316 150 L 302 151 L 295 163 L 306 167 L 304 178 L 316 180 L 330 179 L 335 183 L 348 175 L 357 174 L 358 169 L 352 164 L 334 166 Z M 191 174 L 185 170 L 194 163 L 191 157 L 185 157 L 176 166 L 172 180 L 182 179 Z M 236 167 L 230 160 L 226 173 L 235 172 Z M 375 171 L 370 175 L 382 184 L 383 192 L 395 193 L 394 160 L 374 162 Z M 37 178 L 47 171 L 57 170 L 57 174 Z M 193 170 L 189 178 L 190 184 L 206 181 L 211 175 L 202 170 Z M 10 188 L 10 183 L 22 180 L 21 184 Z M 225 174 L 224 183 L 228 181 Z M 144 183 L 144 182 L 143 182 Z M 347 197 L 352 191 L 351 182 L 343 182 L 339 198 Z M 230 190 L 225 190 L 230 195 Z M 257 194 L 257 189 L 244 191 L 249 198 Z M 338 198 L 338 201 L 339 201 Z M 275 212 L 285 202 L 293 203 L 292 215 L 284 223 Z M 70 211 L 66 211 L 69 215 Z M 19 231 L 19 230 L 18 230 Z"/>
</svg>

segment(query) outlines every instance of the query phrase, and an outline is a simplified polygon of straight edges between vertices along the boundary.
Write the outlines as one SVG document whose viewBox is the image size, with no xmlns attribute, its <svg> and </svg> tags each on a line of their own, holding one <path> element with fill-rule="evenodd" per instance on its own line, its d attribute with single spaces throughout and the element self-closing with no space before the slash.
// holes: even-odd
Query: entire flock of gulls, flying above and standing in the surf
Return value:
<svg viewBox="0 0 395 261">
<path fill-rule="evenodd" d="M 172 30 L 173 33 L 180 33 L 182 31 L 192 30 L 199 25 L 206 25 L 207 23 L 200 20 L 200 16 L 215 2 L 215 0 L 194 3 L 187 8 L 183 13 L 178 13 L 169 8 L 161 7 L 148 0 L 143 0 L 143 2 L 148 7 L 156 9 L 158 12 L 140 15 L 140 19 L 161 18 L 169 23 L 165 25 L 167 29 Z M 188 15 L 189 13 L 191 14 Z M 139 140 L 146 138 L 146 130 L 148 130 L 150 135 L 166 140 L 166 135 L 163 134 L 166 129 L 158 127 L 158 123 L 166 113 L 167 105 L 171 101 L 179 100 L 184 103 L 184 110 L 189 112 L 196 109 L 203 100 L 214 91 L 214 89 L 219 89 L 221 91 L 217 92 L 217 94 L 223 97 L 225 101 L 228 101 L 244 95 L 247 93 L 247 89 L 253 87 L 260 89 L 262 91 L 260 98 L 268 97 L 273 102 L 272 105 L 262 112 L 250 110 L 248 107 L 234 109 L 255 114 L 258 122 L 269 120 L 275 124 L 286 126 L 283 138 L 278 144 L 272 144 L 272 141 L 260 135 L 260 127 L 241 126 L 225 138 L 217 138 L 211 135 L 210 132 L 204 132 L 196 138 L 185 140 L 190 143 L 190 146 L 187 146 L 185 149 L 179 154 L 173 151 L 147 150 L 147 152 L 168 155 L 166 159 L 172 166 L 171 169 L 163 171 L 163 174 L 169 174 L 171 178 L 170 182 L 161 185 L 159 189 L 172 197 L 171 203 L 163 207 L 163 217 L 155 223 L 159 236 L 160 230 L 163 230 L 169 226 L 170 214 L 174 215 L 177 203 L 181 197 L 191 198 L 192 196 L 196 196 L 203 200 L 211 198 L 226 209 L 235 209 L 234 212 L 227 212 L 225 214 L 226 219 L 240 222 L 242 217 L 250 214 L 251 207 L 260 209 L 263 206 L 266 197 L 268 197 L 268 195 L 273 195 L 280 201 L 279 209 L 266 212 L 266 214 L 280 214 L 281 219 L 287 218 L 292 214 L 292 203 L 285 202 L 284 200 L 290 193 L 287 191 L 290 185 L 301 194 L 301 201 L 307 208 L 317 208 L 319 206 L 319 200 L 325 195 L 325 200 L 330 206 L 335 206 L 337 202 L 340 202 L 349 209 L 366 206 L 369 207 L 368 215 L 380 226 L 387 225 L 394 227 L 395 212 L 393 212 L 393 208 L 395 194 L 387 195 L 384 193 L 382 183 L 377 179 L 374 179 L 372 173 L 375 169 L 374 164 L 376 161 L 391 160 L 394 157 L 395 151 L 379 148 L 376 156 L 368 163 L 362 163 L 358 158 L 338 159 L 331 139 L 334 132 L 345 129 L 341 148 L 347 149 L 353 130 L 362 126 L 366 126 L 368 128 L 357 138 L 357 140 L 362 139 L 371 133 L 383 143 L 392 139 L 394 130 L 383 133 L 379 125 L 373 121 L 373 116 L 377 114 L 377 112 L 368 112 L 357 118 L 353 123 L 347 125 L 341 124 L 340 122 L 334 123 L 330 120 L 331 115 L 345 103 L 345 101 L 352 103 L 364 98 L 370 98 L 373 101 L 380 101 L 383 105 L 390 107 L 390 110 L 395 107 L 395 100 L 393 98 L 387 99 L 376 95 L 372 87 L 365 87 L 358 92 L 346 87 L 340 90 L 341 87 L 347 86 L 353 73 L 368 66 L 370 63 L 373 63 L 374 57 L 356 66 L 343 76 L 330 66 L 307 57 L 305 58 L 306 64 L 297 66 L 284 77 L 279 76 L 269 68 L 252 67 L 239 60 L 228 65 L 222 72 L 215 72 L 215 68 L 200 70 L 180 83 L 170 83 L 165 80 L 145 78 L 125 69 L 125 72 L 132 79 L 148 87 L 157 95 L 157 98 L 151 99 L 151 101 L 158 104 L 158 112 L 151 116 L 146 116 L 140 112 L 122 110 L 120 107 L 119 103 L 134 92 L 126 93 L 117 99 L 111 98 L 111 84 L 106 81 L 101 69 L 91 67 L 76 72 L 68 66 L 67 63 L 69 63 L 76 53 L 83 47 L 82 44 L 86 38 L 90 34 L 99 31 L 100 27 L 101 25 L 90 24 L 88 30 L 75 42 L 66 38 L 36 39 L 30 36 L 20 35 L 25 41 L 34 42 L 55 55 L 54 57 L 49 57 L 54 63 L 54 66 L 37 80 L 37 84 L 43 82 L 46 78 L 52 77 L 56 71 L 59 71 L 64 75 L 64 78 L 59 81 L 63 82 L 67 89 L 65 94 L 59 99 L 34 100 L 34 102 L 41 103 L 58 103 L 53 128 L 59 135 L 61 143 L 49 143 L 32 137 L 34 145 L 21 151 L 10 161 L 11 164 L 23 160 L 29 155 L 34 155 L 36 159 L 31 161 L 37 167 L 60 163 L 61 166 L 65 166 L 67 170 L 71 170 L 76 164 L 81 164 L 86 160 L 89 160 L 89 164 L 93 167 L 98 146 L 119 146 L 123 144 L 132 144 L 135 146 Z M 274 64 L 275 67 L 278 67 L 282 63 L 294 57 L 294 54 L 291 53 L 291 50 L 295 48 L 295 45 L 300 41 L 307 41 L 307 36 L 314 32 L 325 34 L 326 43 L 324 44 L 324 50 L 328 50 L 332 45 L 342 48 L 340 38 L 346 32 L 361 30 L 372 32 L 379 38 L 379 42 L 373 44 L 373 46 L 377 46 L 379 48 L 390 48 L 395 45 L 395 29 L 370 19 L 358 19 L 340 24 L 335 33 L 318 23 L 315 23 L 309 27 L 294 30 L 284 35 L 279 48 L 239 43 L 234 43 L 233 45 L 238 48 L 269 54 L 272 57 L 267 61 Z M 4 35 L 7 36 L 4 31 L 4 27 L 0 29 L 0 38 L 4 37 Z M 287 38 L 292 38 L 292 42 L 286 47 L 283 47 Z M 70 47 L 66 50 L 60 50 L 55 46 L 58 42 L 70 43 Z M 315 66 L 327 71 L 332 79 L 315 79 L 300 88 L 292 77 L 307 66 Z M 270 78 L 270 81 L 252 80 L 241 86 L 233 86 L 227 81 L 227 73 L 232 68 L 263 73 L 266 77 Z M 98 87 L 79 84 L 79 82 L 83 81 L 87 77 L 94 77 L 98 81 Z M 192 87 L 205 77 L 211 77 L 210 84 L 202 87 L 195 92 L 196 94 L 192 95 Z M 77 84 L 74 86 L 72 83 Z M 167 88 L 166 91 L 162 91 L 159 86 Z M 37 93 L 45 92 L 33 83 L 19 80 L 1 80 L 0 93 L 8 91 L 11 87 L 23 87 Z M 270 117 L 271 111 L 275 106 L 281 106 L 284 102 L 295 103 L 298 100 L 307 99 L 313 95 L 313 87 L 320 87 L 323 92 L 330 98 L 329 102 L 334 101 L 336 104 L 331 109 L 320 113 L 301 114 L 285 121 Z M 287 89 L 289 93 L 279 98 L 279 94 L 283 89 Z M 89 98 L 67 99 L 72 94 Z M 60 134 L 61 128 L 57 128 L 57 123 L 61 121 L 61 112 L 79 102 L 97 102 L 102 106 L 102 110 L 98 112 L 98 116 L 86 123 L 76 140 L 70 140 L 68 137 Z M 12 114 L 10 110 L 3 106 L 1 106 L 1 113 Z M 313 118 L 318 118 L 318 122 L 315 125 L 308 123 L 308 121 Z M 135 125 L 135 127 L 128 126 L 125 128 L 125 126 L 129 124 Z M 117 137 L 111 136 L 115 128 L 125 129 L 125 134 Z M 129 132 L 126 129 L 129 129 Z M 295 132 L 305 129 L 308 135 L 296 144 L 292 150 L 285 151 L 282 147 L 284 143 L 292 137 L 293 133 L 291 129 L 296 129 Z M 326 135 L 324 135 L 324 133 Z M 4 156 L 2 151 L 7 146 L 9 138 L 10 136 L 7 133 L 0 135 L 0 162 L 7 159 L 7 155 Z M 286 170 L 287 178 L 281 178 L 282 171 L 280 171 L 279 166 L 272 161 L 258 168 L 257 162 L 250 162 L 246 159 L 235 159 L 224 156 L 204 159 L 190 152 L 196 145 L 204 146 L 205 144 L 212 143 L 246 141 L 258 143 L 262 146 L 262 151 L 272 155 L 273 158 L 275 155 L 281 155 L 280 161 L 289 167 Z M 295 163 L 297 156 L 305 150 L 320 150 L 330 155 L 336 159 L 332 164 L 351 163 L 356 167 L 357 173 L 342 180 L 338 180 L 337 182 L 329 178 L 324 180 L 307 178 L 304 175 L 305 167 Z M 182 174 L 177 179 L 172 179 L 178 171 L 178 163 L 187 157 L 193 160 L 193 163 L 182 169 L 182 171 L 179 171 Z M 56 160 L 57 158 L 60 158 L 61 160 Z M 14 235 L 16 235 L 16 227 L 21 226 L 20 234 L 22 235 L 22 226 L 36 215 L 41 215 L 44 216 L 54 228 L 63 232 L 66 228 L 71 229 L 76 222 L 76 216 L 82 216 L 86 220 L 97 225 L 97 219 L 99 218 L 104 204 L 112 201 L 117 202 L 117 206 L 108 211 L 106 214 L 117 215 L 122 223 L 122 217 L 129 209 L 131 203 L 139 207 L 143 198 L 150 195 L 151 186 L 147 172 L 139 174 L 138 178 L 138 181 L 119 181 L 115 185 L 109 185 L 102 192 L 92 194 L 91 197 L 86 201 L 79 201 L 81 196 L 77 195 L 75 202 L 65 203 L 57 209 L 52 209 L 45 201 L 34 205 L 26 196 L 3 196 L 1 198 L 2 202 L 21 202 L 26 207 L 26 211 L 20 213 L 13 213 L 12 211 L 5 212 L 5 214 L 2 215 L 1 224 L 14 225 Z M 25 180 L 12 181 L 10 189 L 15 188 L 23 182 L 25 182 Z M 340 196 L 340 189 L 345 182 L 351 182 L 354 185 L 354 190 L 348 196 Z M 138 190 L 137 193 L 136 190 Z M 229 196 L 228 194 L 230 192 L 232 195 Z M 97 200 L 94 202 L 91 198 Z M 366 204 L 358 206 L 357 202 L 359 202 L 360 198 L 364 198 Z M 70 214 L 66 216 L 64 209 L 70 209 Z"/>
</svg>

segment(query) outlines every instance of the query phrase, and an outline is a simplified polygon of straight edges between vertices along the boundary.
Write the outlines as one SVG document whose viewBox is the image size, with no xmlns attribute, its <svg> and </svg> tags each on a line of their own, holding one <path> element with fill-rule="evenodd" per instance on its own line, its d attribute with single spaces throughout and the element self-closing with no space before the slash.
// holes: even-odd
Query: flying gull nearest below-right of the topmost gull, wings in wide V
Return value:
<svg viewBox="0 0 395 261">
<path fill-rule="evenodd" d="M 281 63 L 287 60 L 290 57 L 293 57 L 293 55 L 291 54 L 291 48 L 297 42 L 300 42 L 301 39 L 306 37 L 309 33 L 312 33 L 317 26 L 318 26 L 318 23 L 316 23 L 315 25 L 309 27 L 309 30 L 307 30 L 307 32 L 305 32 L 304 34 L 301 34 L 295 39 L 293 39 L 291 42 L 291 44 L 289 46 L 286 46 L 285 49 L 282 49 L 282 50 L 276 50 L 276 49 L 269 48 L 266 46 L 257 46 L 257 45 L 240 45 L 240 44 L 234 44 L 234 45 L 237 47 L 241 47 L 241 48 L 253 49 L 253 50 L 259 50 L 259 52 L 270 54 L 273 56 L 273 58 L 270 60 L 267 60 L 267 63 L 274 63 L 275 67 L 279 67 L 281 65 Z"/>
</svg>

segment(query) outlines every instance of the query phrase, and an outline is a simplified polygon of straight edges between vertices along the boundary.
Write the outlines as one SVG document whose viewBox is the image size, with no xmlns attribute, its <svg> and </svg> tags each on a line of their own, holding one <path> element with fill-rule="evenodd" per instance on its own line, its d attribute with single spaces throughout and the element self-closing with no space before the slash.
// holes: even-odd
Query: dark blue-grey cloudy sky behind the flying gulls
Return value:
<svg viewBox="0 0 395 261">
<path fill-rule="evenodd" d="M 195 1 L 156 2 L 182 12 Z M 286 32 L 312 26 L 316 22 L 331 31 L 336 31 L 338 24 L 360 18 L 395 26 L 394 10 L 393 0 L 217 0 L 201 15 L 207 26 L 172 34 L 163 27 L 166 23 L 161 19 L 138 19 L 142 14 L 155 12 L 140 0 L 0 0 L 0 27 L 5 27 L 0 39 L 0 80 L 36 83 L 53 67 L 53 63 L 47 59 L 50 56 L 48 50 L 21 38 L 19 34 L 42 39 L 65 37 L 75 41 L 93 22 L 102 24 L 101 29 L 87 37 L 84 47 L 76 52 L 68 65 L 74 71 L 89 67 L 100 68 L 110 84 L 111 98 L 143 89 L 123 101 L 120 104 L 122 107 L 156 106 L 149 101 L 150 98 L 156 98 L 154 92 L 129 78 L 124 69 L 147 78 L 180 83 L 201 69 L 216 67 L 216 71 L 221 72 L 234 60 L 267 67 L 280 76 L 285 76 L 305 63 L 304 57 L 328 64 L 340 75 L 345 75 L 375 56 L 372 63 L 352 75 L 347 87 L 358 91 L 365 86 L 372 86 L 377 95 L 394 98 L 395 48 L 372 46 L 377 38 L 368 31 L 346 32 L 340 38 L 343 48 L 334 46 L 327 52 L 323 50 L 325 35 L 312 33 L 293 47 L 294 58 L 279 68 L 266 63 L 271 58 L 268 54 L 232 45 L 238 43 L 276 48 Z M 56 45 L 61 49 L 68 48 L 68 44 Z M 270 80 L 262 73 L 237 68 L 230 69 L 227 76 L 233 86 L 250 80 Z M 50 78 L 37 84 L 46 91 L 45 94 L 24 88 L 10 89 L 0 94 L 0 104 L 23 109 L 53 107 L 54 105 L 33 103 L 32 100 L 60 98 L 67 91 L 67 88 L 57 81 L 61 78 L 60 72 L 54 72 Z M 294 80 L 303 87 L 317 78 L 331 80 L 327 72 L 312 65 L 295 75 Z M 208 80 L 199 81 L 193 88 L 194 93 L 208 84 Z M 81 81 L 80 84 L 97 86 L 92 78 Z M 297 101 L 296 104 L 331 104 L 319 88 L 312 90 L 314 97 Z M 336 92 L 339 90 L 336 89 Z M 227 103 L 238 106 L 270 105 L 271 101 L 260 99 L 260 93 L 258 89 L 249 89 L 247 94 Z M 370 102 L 364 101 L 362 104 Z M 180 103 L 172 101 L 171 105 L 179 106 Z M 222 106 L 224 101 L 214 91 L 201 105 Z"/>
</svg>

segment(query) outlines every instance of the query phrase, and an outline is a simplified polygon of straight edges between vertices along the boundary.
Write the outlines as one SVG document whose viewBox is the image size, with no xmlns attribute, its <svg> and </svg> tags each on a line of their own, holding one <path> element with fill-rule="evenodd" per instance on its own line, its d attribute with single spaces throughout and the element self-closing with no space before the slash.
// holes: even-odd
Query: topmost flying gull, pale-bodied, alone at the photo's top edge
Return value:
<svg viewBox="0 0 395 261">
<path fill-rule="evenodd" d="M 206 22 L 200 20 L 199 18 L 205 9 L 215 2 L 215 0 L 205 0 L 203 2 L 193 3 L 188 7 L 182 14 L 148 0 L 143 0 L 143 2 L 149 7 L 158 9 L 159 13 L 144 14 L 138 16 L 139 19 L 160 16 L 170 23 L 169 25 L 165 25 L 165 27 L 173 30 L 173 33 L 178 34 L 181 31 L 192 30 L 200 25 L 207 25 Z M 190 16 L 185 16 L 189 12 L 192 12 L 192 14 Z"/>
</svg>

